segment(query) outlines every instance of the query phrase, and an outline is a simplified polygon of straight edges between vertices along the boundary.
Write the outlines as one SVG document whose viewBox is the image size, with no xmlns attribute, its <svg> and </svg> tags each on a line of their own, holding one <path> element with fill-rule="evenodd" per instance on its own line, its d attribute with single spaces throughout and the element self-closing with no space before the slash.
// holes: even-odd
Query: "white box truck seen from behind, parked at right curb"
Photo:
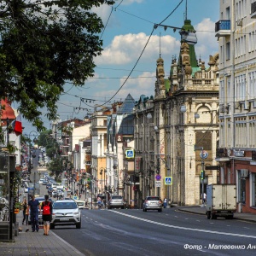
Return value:
<svg viewBox="0 0 256 256">
<path fill-rule="evenodd" d="M 207 185 L 207 218 L 234 218 L 236 212 L 236 184 Z"/>
</svg>

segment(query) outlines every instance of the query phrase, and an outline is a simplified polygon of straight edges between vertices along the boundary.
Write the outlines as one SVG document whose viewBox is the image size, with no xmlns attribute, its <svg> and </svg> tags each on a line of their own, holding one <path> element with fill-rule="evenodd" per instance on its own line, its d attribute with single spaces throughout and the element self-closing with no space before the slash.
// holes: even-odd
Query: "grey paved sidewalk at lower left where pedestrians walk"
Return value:
<svg viewBox="0 0 256 256">
<path fill-rule="evenodd" d="M 22 212 L 17 214 L 17 221 L 22 231 L 18 236 L 15 236 L 14 242 L 0 241 L 0 254 L 3 255 L 84 255 L 75 247 L 55 235 L 49 230 L 49 236 L 44 236 L 44 230 L 32 232 L 31 226 L 28 226 L 29 231 L 25 232 L 26 225 L 22 225 Z"/>
</svg>

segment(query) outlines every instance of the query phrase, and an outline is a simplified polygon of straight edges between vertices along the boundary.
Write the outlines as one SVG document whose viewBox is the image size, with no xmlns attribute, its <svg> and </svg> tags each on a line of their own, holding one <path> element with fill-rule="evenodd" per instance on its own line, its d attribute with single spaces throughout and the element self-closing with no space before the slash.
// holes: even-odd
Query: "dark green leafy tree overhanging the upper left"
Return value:
<svg viewBox="0 0 256 256">
<path fill-rule="evenodd" d="M 101 55 L 103 24 L 91 11 L 112 0 L 0 0 L 0 96 L 20 104 L 19 111 L 38 130 L 41 108 L 56 119 L 65 83 L 93 77 Z"/>
</svg>

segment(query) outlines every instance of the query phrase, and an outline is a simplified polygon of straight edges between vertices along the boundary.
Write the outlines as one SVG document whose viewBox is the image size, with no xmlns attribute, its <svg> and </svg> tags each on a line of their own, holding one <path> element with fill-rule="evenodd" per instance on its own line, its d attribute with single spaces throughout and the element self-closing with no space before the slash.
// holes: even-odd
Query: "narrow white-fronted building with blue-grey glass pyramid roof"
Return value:
<svg viewBox="0 0 256 256">
<path fill-rule="evenodd" d="M 126 178 L 131 175 L 131 164 L 129 164 L 131 160 L 126 160 L 124 147 L 133 140 L 134 105 L 134 99 L 128 94 L 124 102 L 113 104 L 113 111 L 108 116 L 108 149 L 106 151 L 108 189 L 113 194 L 124 195 L 127 201 L 131 198 L 130 189 L 125 186 L 130 185 Z M 134 171 L 133 168 L 132 171 Z"/>
</svg>

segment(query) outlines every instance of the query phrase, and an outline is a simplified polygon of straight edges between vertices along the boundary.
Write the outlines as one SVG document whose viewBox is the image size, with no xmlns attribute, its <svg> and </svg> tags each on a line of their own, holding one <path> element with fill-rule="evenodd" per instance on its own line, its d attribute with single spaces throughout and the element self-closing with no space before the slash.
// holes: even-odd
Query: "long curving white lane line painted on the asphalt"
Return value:
<svg viewBox="0 0 256 256">
<path fill-rule="evenodd" d="M 241 235 L 241 234 L 236 234 L 236 233 L 226 233 L 226 232 L 211 231 L 211 230 L 191 229 L 191 228 L 187 228 L 187 227 L 174 226 L 174 225 L 170 225 L 170 224 L 163 224 L 163 223 L 156 222 L 156 221 L 153 221 L 153 220 L 139 218 L 139 217 L 136 217 L 136 216 L 132 216 L 132 215 L 126 214 L 124 212 L 116 212 L 116 211 L 113 211 L 113 210 L 110 210 L 110 211 L 114 212 L 114 213 L 117 213 L 117 214 L 120 214 L 120 215 L 124 215 L 124 216 L 129 217 L 129 218 L 136 218 L 136 219 L 144 221 L 144 222 L 148 222 L 148 223 L 156 224 L 156 225 L 160 225 L 160 226 L 165 226 L 165 227 L 172 228 L 172 229 L 177 229 L 177 230 L 191 230 L 191 231 L 197 231 L 197 232 L 203 232 L 203 233 L 211 233 L 211 234 L 218 234 L 218 235 L 224 235 L 224 236 L 239 236 L 239 237 L 247 237 L 247 238 L 254 238 L 254 239 L 256 239 L 256 236 L 247 236 L 247 235 Z"/>
</svg>

